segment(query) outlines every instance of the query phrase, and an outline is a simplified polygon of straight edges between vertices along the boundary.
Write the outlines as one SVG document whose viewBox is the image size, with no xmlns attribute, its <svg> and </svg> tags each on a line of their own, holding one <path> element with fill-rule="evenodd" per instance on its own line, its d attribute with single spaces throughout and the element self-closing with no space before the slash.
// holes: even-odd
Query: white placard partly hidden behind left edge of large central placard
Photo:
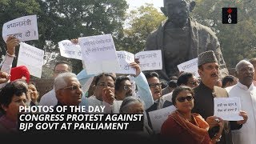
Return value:
<svg viewBox="0 0 256 144">
<path fill-rule="evenodd" d="M 80 45 L 76 45 L 70 40 L 63 40 L 58 42 L 58 47 L 62 57 L 82 60 Z"/>
</svg>

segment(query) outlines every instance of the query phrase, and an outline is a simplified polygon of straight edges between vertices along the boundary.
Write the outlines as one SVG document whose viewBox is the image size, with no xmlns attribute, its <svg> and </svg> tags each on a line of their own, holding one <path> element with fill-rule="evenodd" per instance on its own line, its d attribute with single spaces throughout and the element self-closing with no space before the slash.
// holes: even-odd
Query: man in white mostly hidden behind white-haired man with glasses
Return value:
<svg viewBox="0 0 256 144">
<path fill-rule="evenodd" d="M 54 78 L 57 78 L 58 74 L 72 72 L 72 66 L 68 62 L 57 62 L 54 66 Z M 40 98 L 39 106 L 55 106 L 57 105 L 57 98 L 55 91 L 50 90 Z"/>
</svg>

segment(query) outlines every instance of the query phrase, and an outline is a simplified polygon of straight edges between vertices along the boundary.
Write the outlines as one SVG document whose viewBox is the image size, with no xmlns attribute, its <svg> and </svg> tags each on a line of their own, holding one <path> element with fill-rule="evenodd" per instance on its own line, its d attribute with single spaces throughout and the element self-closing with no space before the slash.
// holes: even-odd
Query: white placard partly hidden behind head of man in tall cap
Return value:
<svg viewBox="0 0 256 144">
<path fill-rule="evenodd" d="M 196 77 L 200 77 L 198 74 L 198 58 L 179 64 L 178 70 L 193 73 Z"/>
</svg>

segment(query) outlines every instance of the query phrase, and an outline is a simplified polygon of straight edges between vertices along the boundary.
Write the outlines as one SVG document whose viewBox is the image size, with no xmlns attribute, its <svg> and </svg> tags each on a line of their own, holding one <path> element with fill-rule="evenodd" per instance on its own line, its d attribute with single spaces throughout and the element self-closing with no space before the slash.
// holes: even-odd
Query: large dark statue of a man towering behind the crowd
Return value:
<svg viewBox="0 0 256 144">
<path fill-rule="evenodd" d="M 162 13 L 168 17 L 146 39 L 146 50 L 162 50 L 160 78 L 167 81 L 179 73 L 178 65 L 198 58 L 198 54 L 213 50 L 218 59 L 222 76 L 228 74 L 218 38 L 207 26 L 202 26 L 190 17 L 194 0 L 163 0 Z"/>
</svg>

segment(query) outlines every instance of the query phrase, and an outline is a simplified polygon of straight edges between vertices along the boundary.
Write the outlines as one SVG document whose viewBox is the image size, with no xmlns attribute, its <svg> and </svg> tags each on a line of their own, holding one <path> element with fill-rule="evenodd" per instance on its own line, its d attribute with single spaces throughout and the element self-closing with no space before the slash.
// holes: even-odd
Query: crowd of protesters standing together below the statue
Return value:
<svg viewBox="0 0 256 144">
<path fill-rule="evenodd" d="M 144 114 L 142 135 L 172 143 L 254 143 L 256 134 L 255 58 L 241 60 L 236 74 L 222 78 L 213 51 L 198 55 L 198 74 L 181 72 L 162 87 L 158 73 L 142 72 L 139 59 L 130 66 L 136 74 L 105 73 L 94 76 L 93 94 L 82 90 L 86 70 L 72 73 L 68 62 L 56 62 L 54 87 L 40 96 L 30 82 L 26 66 L 12 68 L 18 39 L 7 39 L 6 58 L 0 72 L 0 132 L 18 133 L 19 106 L 105 106 L 105 114 Z M 82 75 L 82 76 L 81 76 Z M 219 84 L 221 83 L 221 85 Z M 225 121 L 214 116 L 214 98 L 239 97 L 241 121 Z M 175 106 L 160 133 L 155 133 L 149 112 Z"/>
</svg>

